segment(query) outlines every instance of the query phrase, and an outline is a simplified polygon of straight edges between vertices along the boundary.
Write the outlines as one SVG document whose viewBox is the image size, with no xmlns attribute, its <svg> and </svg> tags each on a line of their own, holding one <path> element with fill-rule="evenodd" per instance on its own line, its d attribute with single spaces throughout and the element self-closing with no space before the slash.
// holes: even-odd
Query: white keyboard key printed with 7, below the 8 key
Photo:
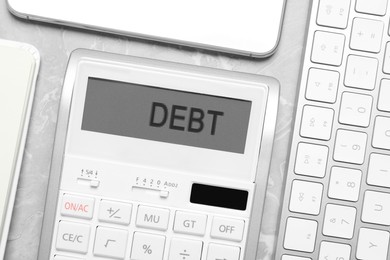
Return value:
<svg viewBox="0 0 390 260">
<path fill-rule="evenodd" d="M 324 229 L 325 236 L 352 238 L 355 228 L 356 209 L 334 204 L 326 205 Z"/>
</svg>

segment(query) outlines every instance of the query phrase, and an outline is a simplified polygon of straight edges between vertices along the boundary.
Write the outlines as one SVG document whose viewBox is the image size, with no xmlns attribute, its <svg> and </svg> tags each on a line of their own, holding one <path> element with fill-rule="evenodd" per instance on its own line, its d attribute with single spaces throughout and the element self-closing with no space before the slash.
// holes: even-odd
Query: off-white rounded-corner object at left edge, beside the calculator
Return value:
<svg viewBox="0 0 390 260">
<path fill-rule="evenodd" d="M 11 223 L 38 68 L 34 47 L 0 40 L 0 259 Z"/>
</svg>

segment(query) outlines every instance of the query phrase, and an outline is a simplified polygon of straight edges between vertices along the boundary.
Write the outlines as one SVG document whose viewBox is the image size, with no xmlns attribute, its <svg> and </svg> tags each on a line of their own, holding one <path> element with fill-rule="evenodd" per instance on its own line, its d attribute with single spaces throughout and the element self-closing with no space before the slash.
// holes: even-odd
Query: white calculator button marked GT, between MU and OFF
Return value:
<svg viewBox="0 0 390 260">
<path fill-rule="evenodd" d="M 206 215 L 177 211 L 173 230 L 184 234 L 204 235 L 206 223 Z"/>
</svg>

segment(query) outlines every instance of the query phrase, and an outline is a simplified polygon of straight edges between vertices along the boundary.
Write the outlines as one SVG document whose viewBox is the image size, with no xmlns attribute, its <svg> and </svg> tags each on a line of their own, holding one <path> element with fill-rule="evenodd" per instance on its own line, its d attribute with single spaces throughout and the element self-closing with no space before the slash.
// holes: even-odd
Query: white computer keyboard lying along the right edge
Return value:
<svg viewBox="0 0 390 260">
<path fill-rule="evenodd" d="M 313 0 L 277 260 L 390 259 L 387 0 Z"/>
</svg>

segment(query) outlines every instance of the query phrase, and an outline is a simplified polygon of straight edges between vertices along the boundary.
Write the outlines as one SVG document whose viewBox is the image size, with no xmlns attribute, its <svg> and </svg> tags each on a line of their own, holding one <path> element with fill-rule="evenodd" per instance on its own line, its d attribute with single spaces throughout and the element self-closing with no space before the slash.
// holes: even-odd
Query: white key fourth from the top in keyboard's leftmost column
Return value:
<svg viewBox="0 0 390 260">
<path fill-rule="evenodd" d="M 301 122 L 301 136 L 329 140 L 332 133 L 334 111 L 329 108 L 305 106 Z"/>
</svg>

